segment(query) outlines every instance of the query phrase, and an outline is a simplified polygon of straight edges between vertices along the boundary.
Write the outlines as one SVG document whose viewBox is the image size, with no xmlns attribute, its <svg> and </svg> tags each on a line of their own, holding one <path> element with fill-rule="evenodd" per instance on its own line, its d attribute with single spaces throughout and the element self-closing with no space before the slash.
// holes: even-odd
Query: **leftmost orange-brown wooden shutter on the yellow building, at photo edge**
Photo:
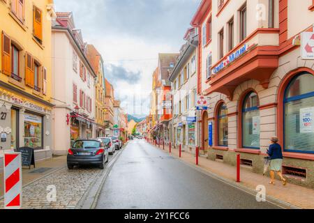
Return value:
<svg viewBox="0 0 314 223">
<path fill-rule="evenodd" d="M 11 72 L 11 40 L 6 33 L 2 32 L 2 72 L 10 76 Z"/>
</svg>

